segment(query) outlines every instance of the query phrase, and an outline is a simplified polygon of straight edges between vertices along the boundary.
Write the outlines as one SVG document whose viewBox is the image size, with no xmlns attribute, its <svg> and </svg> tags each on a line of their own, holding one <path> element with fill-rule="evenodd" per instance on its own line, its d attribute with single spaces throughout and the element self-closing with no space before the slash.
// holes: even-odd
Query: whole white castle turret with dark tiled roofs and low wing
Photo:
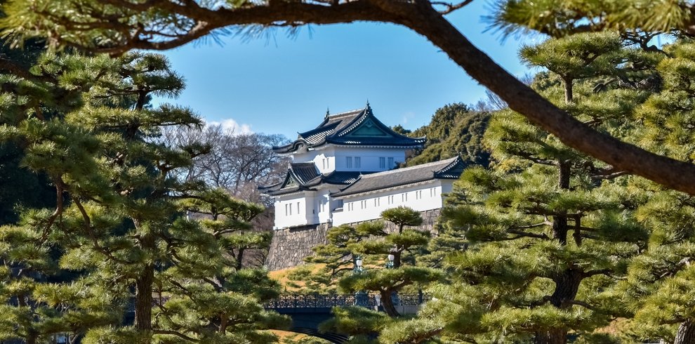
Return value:
<svg viewBox="0 0 695 344">
<path fill-rule="evenodd" d="M 261 187 L 274 199 L 275 229 L 379 218 L 381 211 L 409 206 L 442 207 L 465 165 L 455 157 L 393 169 L 425 138 L 409 138 L 374 117 L 369 103 L 359 110 L 328 114 L 289 145 L 273 147 L 292 158 L 281 183 Z"/>
</svg>

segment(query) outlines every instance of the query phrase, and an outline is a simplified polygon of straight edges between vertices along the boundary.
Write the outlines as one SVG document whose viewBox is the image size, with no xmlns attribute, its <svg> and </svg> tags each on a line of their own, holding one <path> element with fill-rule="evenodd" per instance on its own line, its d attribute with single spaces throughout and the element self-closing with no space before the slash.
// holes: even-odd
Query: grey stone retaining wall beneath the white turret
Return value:
<svg viewBox="0 0 695 344">
<path fill-rule="evenodd" d="M 439 212 L 440 209 L 421 212 L 423 224 L 419 228 L 433 232 L 437 218 L 439 218 Z M 357 224 L 359 223 L 350 223 L 350 225 Z M 387 230 L 390 231 L 396 229 L 392 223 L 386 223 L 386 226 Z M 304 258 L 313 254 L 311 250 L 313 247 L 328 243 L 326 232 L 330 227 L 330 224 L 322 223 L 321 225 L 275 230 L 265 266 L 268 270 L 274 271 L 303 264 Z"/>
</svg>

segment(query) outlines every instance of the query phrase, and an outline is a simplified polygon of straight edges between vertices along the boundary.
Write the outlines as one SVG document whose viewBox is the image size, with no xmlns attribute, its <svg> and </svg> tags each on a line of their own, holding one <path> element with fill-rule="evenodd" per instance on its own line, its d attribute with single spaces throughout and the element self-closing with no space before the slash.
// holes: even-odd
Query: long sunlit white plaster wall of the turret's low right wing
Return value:
<svg viewBox="0 0 695 344">
<path fill-rule="evenodd" d="M 397 206 L 408 206 L 416 211 L 442 208 L 442 192 L 451 191 L 452 183 L 453 180 L 432 180 L 395 190 L 342 197 L 343 211 L 333 212 L 333 225 L 374 220 L 380 218 L 382 211 Z"/>
</svg>

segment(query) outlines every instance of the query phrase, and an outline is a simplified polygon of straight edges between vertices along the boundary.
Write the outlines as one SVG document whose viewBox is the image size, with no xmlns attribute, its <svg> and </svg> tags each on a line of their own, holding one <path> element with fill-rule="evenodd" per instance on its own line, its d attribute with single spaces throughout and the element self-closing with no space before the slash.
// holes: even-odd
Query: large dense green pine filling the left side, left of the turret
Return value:
<svg viewBox="0 0 695 344">
<path fill-rule="evenodd" d="M 151 139 L 161 126 L 201 124 L 185 108 L 146 106 L 153 94 L 183 88 L 166 59 L 45 55 L 30 71 L 2 78 L 0 139 L 22 143 L 22 164 L 46 173 L 57 204 L 0 227 L 2 338 L 272 340 L 261 330 L 284 320 L 260 302 L 277 296 L 277 283 L 239 270 L 234 259 L 253 241 L 242 230 L 262 207 L 174 178 L 204 145 Z M 191 220 L 187 212 L 214 216 Z M 75 275 L 51 280 L 60 271 Z M 124 326 L 131 317 L 133 326 Z"/>
</svg>

